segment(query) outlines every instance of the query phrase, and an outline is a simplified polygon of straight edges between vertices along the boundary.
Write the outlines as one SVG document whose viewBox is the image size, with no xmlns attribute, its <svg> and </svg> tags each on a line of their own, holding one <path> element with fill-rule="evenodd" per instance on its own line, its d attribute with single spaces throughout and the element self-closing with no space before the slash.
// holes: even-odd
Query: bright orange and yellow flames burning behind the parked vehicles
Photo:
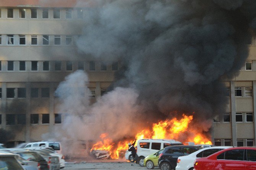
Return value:
<svg viewBox="0 0 256 170">
<path fill-rule="evenodd" d="M 144 129 L 138 132 L 135 136 L 137 140 L 139 139 L 185 139 L 185 142 L 194 142 L 195 144 L 212 144 L 205 135 L 196 132 L 194 129 L 188 130 L 189 123 L 193 120 L 193 115 L 186 116 L 182 115 L 183 118 L 178 120 L 173 118 L 171 120 L 167 119 L 165 121 L 160 121 L 152 125 L 152 130 Z M 189 134 L 189 135 L 188 135 Z M 185 138 L 184 138 L 185 135 Z M 101 141 L 93 145 L 92 149 L 97 150 L 107 150 L 110 152 L 112 159 L 119 158 L 119 152 L 121 150 L 128 149 L 128 143 L 133 143 L 133 141 L 119 141 L 118 143 L 113 142 L 111 138 L 108 137 L 107 133 L 102 133 L 100 135 Z M 91 150 L 92 150 L 91 149 Z"/>
</svg>

